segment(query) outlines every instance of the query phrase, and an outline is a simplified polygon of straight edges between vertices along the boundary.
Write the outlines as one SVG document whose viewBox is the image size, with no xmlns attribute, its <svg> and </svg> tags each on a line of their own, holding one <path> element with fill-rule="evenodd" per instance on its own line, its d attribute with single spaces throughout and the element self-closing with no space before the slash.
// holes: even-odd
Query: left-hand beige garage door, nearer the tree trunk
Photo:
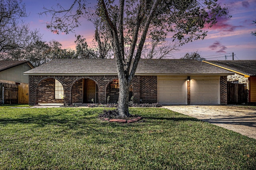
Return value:
<svg viewBox="0 0 256 170">
<path fill-rule="evenodd" d="M 160 104 L 186 104 L 186 80 L 158 79 L 157 92 Z"/>
</svg>

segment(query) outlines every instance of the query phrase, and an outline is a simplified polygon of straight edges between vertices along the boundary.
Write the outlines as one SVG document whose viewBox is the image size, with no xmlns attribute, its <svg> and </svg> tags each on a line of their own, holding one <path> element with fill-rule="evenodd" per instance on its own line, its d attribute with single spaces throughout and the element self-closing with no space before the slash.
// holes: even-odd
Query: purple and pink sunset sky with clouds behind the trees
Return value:
<svg viewBox="0 0 256 170">
<path fill-rule="evenodd" d="M 43 7 L 56 7 L 57 3 L 69 7 L 73 0 L 23 0 L 26 5 L 26 12 L 29 14 L 25 22 L 30 24 L 30 29 L 39 29 L 43 35 L 42 40 L 59 41 L 62 48 L 75 47 L 75 34 L 83 35 L 88 44 L 91 43 L 94 35 L 92 23 L 82 20 L 82 24 L 75 33 L 60 33 L 56 35 L 46 29 L 46 22 L 51 20 L 51 16 L 40 16 L 38 13 L 44 12 Z M 93 3 L 96 1 L 92 0 Z M 174 58 L 179 59 L 186 53 L 196 52 L 208 60 L 252 60 L 256 59 L 256 36 L 251 35 L 256 31 L 256 25 L 252 24 L 256 20 L 256 0 L 219 0 L 218 3 L 226 5 L 232 18 L 218 19 L 217 24 L 208 30 L 204 40 L 197 40 L 183 45 L 180 51 L 174 53 Z M 171 38 L 168 38 L 172 42 Z"/>
</svg>

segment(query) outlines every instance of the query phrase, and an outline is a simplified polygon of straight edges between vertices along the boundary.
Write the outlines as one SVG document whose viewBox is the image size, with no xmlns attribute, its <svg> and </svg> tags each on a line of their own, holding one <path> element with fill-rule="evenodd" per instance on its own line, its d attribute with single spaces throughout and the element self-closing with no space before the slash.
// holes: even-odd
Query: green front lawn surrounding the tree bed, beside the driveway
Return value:
<svg viewBox="0 0 256 170">
<path fill-rule="evenodd" d="M 106 109 L 106 108 L 105 108 Z M 102 108 L 0 107 L 0 169 L 256 169 L 256 140 L 160 108 L 109 123 Z"/>
</svg>

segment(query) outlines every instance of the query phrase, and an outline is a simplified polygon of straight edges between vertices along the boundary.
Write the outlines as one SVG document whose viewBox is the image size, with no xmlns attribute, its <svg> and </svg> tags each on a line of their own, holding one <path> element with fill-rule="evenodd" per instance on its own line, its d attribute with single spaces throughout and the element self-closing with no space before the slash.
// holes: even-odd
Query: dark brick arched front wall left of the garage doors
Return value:
<svg viewBox="0 0 256 170">
<path fill-rule="evenodd" d="M 118 99 L 117 91 L 112 92 L 109 84 L 117 76 L 29 76 L 29 104 L 36 105 L 38 102 L 60 103 L 62 100 L 54 100 L 54 79 L 60 81 L 64 88 L 64 100 L 67 104 L 82 103 L 82 79 L 91 79 L 96 83 L 97 103 L 106 103 L 109 93 L 114 94 L 111 100 Z M 53 84 L 52 84 L 53 82 Z M 132 82 L 133 90 L 130 97 L 134 96 L 137 103 L 157 102 L 157 78 L 156 76 L 135 76 Z M 46 94 L 46 92 L 48 92 Z M 141 101 L 140 101 L 141 100 Z"/>
</svg>

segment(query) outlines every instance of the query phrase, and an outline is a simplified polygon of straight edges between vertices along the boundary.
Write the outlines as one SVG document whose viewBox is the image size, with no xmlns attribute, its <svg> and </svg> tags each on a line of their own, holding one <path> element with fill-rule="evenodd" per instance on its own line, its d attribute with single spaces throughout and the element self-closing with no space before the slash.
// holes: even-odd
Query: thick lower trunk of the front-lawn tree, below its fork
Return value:
<svg viewBox="0 0 256 170">
<path fill-rule="evenodd" d="M 129 88 L 130 84 L 119 78 L 118 113 L 121 117 L 130 117 L 129 113 Z"/>
</svg>

